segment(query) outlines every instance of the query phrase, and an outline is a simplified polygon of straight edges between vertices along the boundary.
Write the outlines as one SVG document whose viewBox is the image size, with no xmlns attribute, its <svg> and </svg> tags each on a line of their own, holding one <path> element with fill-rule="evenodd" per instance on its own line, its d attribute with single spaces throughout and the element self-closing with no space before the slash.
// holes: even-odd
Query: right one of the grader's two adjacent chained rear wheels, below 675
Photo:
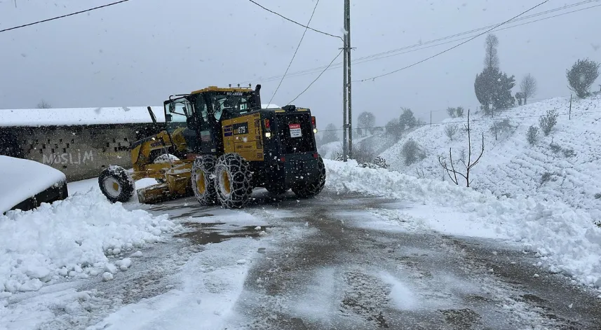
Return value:
<svg viewBox="0 0 601 330">
<path fill-rule="evenodd" d="M 228 209 L 244 207 L 252 193 L 252 172 L 248 162 L 237 153 L 222 155 L 215 164 L 217 200 Z"/>
</svg>

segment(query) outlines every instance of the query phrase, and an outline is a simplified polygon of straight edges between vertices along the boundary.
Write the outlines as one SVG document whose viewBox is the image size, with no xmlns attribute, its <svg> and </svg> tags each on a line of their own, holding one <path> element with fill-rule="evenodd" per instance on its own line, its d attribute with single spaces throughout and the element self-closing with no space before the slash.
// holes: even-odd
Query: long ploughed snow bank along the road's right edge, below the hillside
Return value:
<svg viewBox="0 0 601 330">
<path fill-rule="evenodd" d="M 490 191 L 473 191 L 434 179 L 417 179 L 398 172 L 374 170 L 325 160 L 326 187 L 398 198 L 428 207 L 452 207 L 474 228 L 494 228 L 501 236 L 521 242 L 537 252 L 553 273 L 576 277 L 583 284 L 601 287 L 601 228 L 588 212 L 562 202 L 534 198 L 497 198 Z M 444 214 L 439 214 L 444 218 Z M 442 219 L 444 220 L 444 219 Z M 452 226 L 452 224 L 449 224 Z"/>
</svg>

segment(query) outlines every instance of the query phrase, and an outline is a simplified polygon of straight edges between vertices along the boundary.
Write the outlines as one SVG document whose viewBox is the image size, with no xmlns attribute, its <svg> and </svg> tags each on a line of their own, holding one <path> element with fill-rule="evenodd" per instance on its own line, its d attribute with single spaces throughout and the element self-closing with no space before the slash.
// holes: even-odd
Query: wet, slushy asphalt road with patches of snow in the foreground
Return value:
<svg viewBox="0 0 601 330">
<path fill-rule="evenodd" d="M 533 266 L 537 259 L 515 245 L 361 228 L 373 221 L 366 210 L 407 207 L 402 202 L 326 191 L 311 200 L 254 197 L 244 212 L 304 233 L 252 261 L 236 329 L 601 329 L 593 292 Z M 210 212 L 191 207 L 177 217 Z M 222 224 L 188 225 L 179 237 L 192 247 L 255 235 L 250 227 L 220 233 Z"/>
</svg>

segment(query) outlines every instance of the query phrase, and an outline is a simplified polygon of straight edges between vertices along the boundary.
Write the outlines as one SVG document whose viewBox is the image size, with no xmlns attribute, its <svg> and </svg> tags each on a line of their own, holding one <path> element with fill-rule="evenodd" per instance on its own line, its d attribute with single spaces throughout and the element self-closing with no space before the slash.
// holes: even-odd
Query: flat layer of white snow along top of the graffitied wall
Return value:
<svg viewBox="0 0 601 330">
<path fill-rule="evenodd" d="M 165 121 L 163 106 L 151 107 Z M 0 109 L 0 127 L 152 123 L 146 106 L 119 108 Z"/>
</svg>

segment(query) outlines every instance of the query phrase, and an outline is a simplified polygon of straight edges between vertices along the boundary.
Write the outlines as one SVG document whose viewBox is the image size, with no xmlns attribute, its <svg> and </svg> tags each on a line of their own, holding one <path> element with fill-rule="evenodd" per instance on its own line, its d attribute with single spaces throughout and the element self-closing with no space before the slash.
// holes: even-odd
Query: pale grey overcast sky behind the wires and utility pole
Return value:
<svg viewBox="0 0 601 330">
<path fill-rule="evenodd" d="M 113 0 L 0 0 L 0 29 Z M 257 0 L 305 24 L 315 0 Z M 343 0 L 320 0 L 311 27 L 342 35 Z M 353 58 L 425 43 L 492 25 L 541 0 L 351 0 Z M 581 0 L 551 0 L 539 13 Z M 565 11 L 601 4 L 589 4 Z M 549 15 L 556 15 L 555 12 Z M 528 14 L 528 15 L 529 15 Z M 545 16 L 540 16 L 543 18 Z M 539 83 L 535 99 L 569 95 L 565 70 L 579 58 L 601 61 L 601 7 L 497 32 L 501 70 Z M 532 19 L 534 20 L 534 18 Z M 271 98 L 304 28 L 248 0 L 131 0 L 89 14 L 0 34 L 0 109 L 160 105 L 171 94 L 207 85 L 262 83 Z M 445 117 L 447 106 L 474 109 L 475 75 L 482 70 L 485 36 L 397 74 L 353 83 L 353 117 L 372 111 L 377 124 L 410 107 L 418 117 Z M 354 79 L 405 67 L 455 43 L 353 64 Z M 342 42 L 307 32 L 290 73 L 327 65 Z M 342 57 L 339 57 L 342 60 Z M 287 78 L 273 103 L 285 105 L 318 72 Z M 597 81 L 593 88 L 599 90 Z M 514 92 L 518 91 L 516 87 Z M 342 125 L 342 69 L 332 69 L 297 106 L 311 108 L 318 125 Z"/>
</svg>

